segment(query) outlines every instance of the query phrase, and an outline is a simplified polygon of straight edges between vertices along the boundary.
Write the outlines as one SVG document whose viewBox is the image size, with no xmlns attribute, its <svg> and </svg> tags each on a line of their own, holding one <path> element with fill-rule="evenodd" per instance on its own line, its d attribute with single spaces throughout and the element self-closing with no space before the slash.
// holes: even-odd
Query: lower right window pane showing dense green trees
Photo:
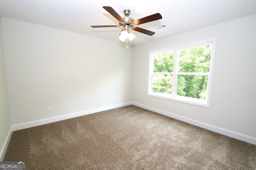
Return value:
<svg viewBox="0 0 256 170">
<path fill-rule="evenodd" d="M 206 100 L 207 75 L 178 75 L 177 95 Z"/>
</svg>

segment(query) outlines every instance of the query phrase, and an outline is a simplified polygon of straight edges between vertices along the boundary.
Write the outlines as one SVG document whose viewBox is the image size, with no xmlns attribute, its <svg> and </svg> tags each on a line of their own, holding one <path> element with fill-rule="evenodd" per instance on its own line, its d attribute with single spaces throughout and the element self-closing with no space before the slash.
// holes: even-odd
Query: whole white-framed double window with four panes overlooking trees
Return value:
<svg viewBox="0 0 256 170">
<path fill-rule="evenodd" d="M 150 51 L 148 95 L 210 107 L 215 39 Z"/>
</svg>

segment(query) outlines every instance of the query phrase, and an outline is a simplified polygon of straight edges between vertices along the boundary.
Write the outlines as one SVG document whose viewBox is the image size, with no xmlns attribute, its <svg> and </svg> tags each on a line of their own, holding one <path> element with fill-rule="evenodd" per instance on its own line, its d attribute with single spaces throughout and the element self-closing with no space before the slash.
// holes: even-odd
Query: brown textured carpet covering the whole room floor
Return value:
<svg viewBox="0 0 256 170">
<path fill-rule="evenodd" d="M 256 145 L 133 105 L 14 131 L 27 170 L 255 170 Z"/>
</svg>

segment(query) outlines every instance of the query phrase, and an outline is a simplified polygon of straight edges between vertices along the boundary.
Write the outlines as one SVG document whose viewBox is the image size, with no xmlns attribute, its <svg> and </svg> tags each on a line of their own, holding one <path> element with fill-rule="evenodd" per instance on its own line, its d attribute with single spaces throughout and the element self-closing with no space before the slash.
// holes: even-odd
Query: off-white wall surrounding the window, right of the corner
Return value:
<svg viewBox="0 0 256 170">
<path fill-rule="evenodd" d="M 255 30 L 253 15 L 136 45 L 133 102 L 255 138 Z M 147 96 L 149 50 L 214 37 L 216 55 L 210 108 Z"/>
</svg>

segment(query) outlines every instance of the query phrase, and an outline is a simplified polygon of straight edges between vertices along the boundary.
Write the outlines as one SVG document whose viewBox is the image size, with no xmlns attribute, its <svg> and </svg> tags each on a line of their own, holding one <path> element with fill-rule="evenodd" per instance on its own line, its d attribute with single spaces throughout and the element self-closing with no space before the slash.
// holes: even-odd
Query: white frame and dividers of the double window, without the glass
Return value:
<svg viewBox="0 0 256 170">
<path fill-rule="evenodd" d="M 211 59 L 210 59 L 210 70 L 206 73 L 182 73 L 178 72 L 178 50 L 189 47 L 196 47 L 201 45 L 212 45 Z M 174 100 L 177 102 L 183 102 L 187 104 L 193 104 L 197 106 L 203 106 L 210 108 L 211 102 L 211 94 L 212 94 L 212 78 L 213 78 L 213 69 L 214 69 L 214 58 L 215 58 L 215 47 L 216 47 L 216 38 L 206 39 L 202 41 L 196 41 L 191 43 L 186 43 L 182 45 L 175 45 L 171 47 L 166 47 L 163 49 L 154 49 L 149 51 L 149 66 L 148 66 L 148 96 L 164 98 L 168 100 Z M 174 72 L 170 73 L 159 73 L 159 74 L 172 74 L 172 94 L 165 93 L 156 93 L 152 92 L 152 76 L 153 76 L 153 68 L 154 68 L 154 53 L 164 52 L 164 51 L 175 51 L 174 57 Z M 207 83 L 207 95 L 206 100 L 195 99 L 184 96 L 177 96 L 177 78 L 178 75 L 208 75 L 208 83 Z"/>
</svg>

